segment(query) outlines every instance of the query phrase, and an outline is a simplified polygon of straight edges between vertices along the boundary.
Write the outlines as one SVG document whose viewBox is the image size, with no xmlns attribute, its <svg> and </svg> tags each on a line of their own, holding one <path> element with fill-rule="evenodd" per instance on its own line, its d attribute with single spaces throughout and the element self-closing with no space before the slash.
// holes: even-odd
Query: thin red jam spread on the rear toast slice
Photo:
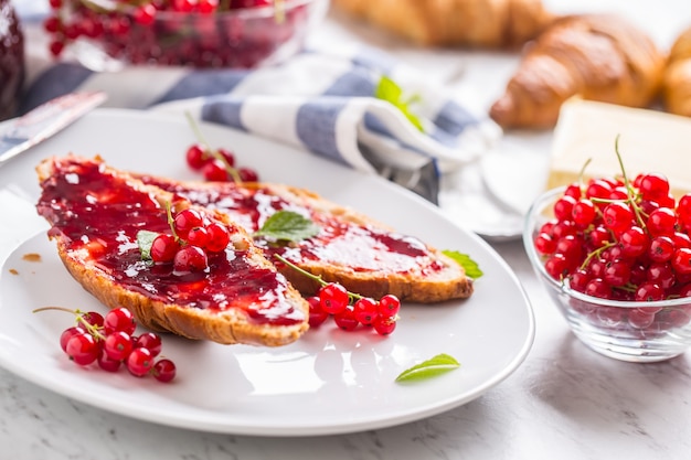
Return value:
<svg viewBox="0 0 691 460">
<path fill-rule="evenodd" d="M 316 236 L 289 246 L 255 242 L 268 255 L 278 253 L 294 264 L 321 260 L 360 272 L 386 271 L 402 275 L 411 271 L 434 274 L 444 269 L 432 257 L 427 246 L 417 238 L 348 222 L 311 208 L 307 203 L 289 201 L 269 188 L 244 188 L 232 182 L 196 186 L 149 176 L 143 178 L 143 181 L 184 196 L 192 203 L 224 211 L 251 234 L 280 210 L 308 215 L 320 227 Z"/>
</svg>

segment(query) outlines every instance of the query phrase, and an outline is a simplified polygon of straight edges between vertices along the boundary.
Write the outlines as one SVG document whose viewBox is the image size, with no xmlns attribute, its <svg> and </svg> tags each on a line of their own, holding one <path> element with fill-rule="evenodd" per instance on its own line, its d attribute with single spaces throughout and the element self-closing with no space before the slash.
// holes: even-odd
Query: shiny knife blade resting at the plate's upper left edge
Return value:
<svg viewBox="0 0 691 460">
<path fill-rule="evenodd" d="M 104 92 L 70 93 L 9 121 L 0 136 L 0 167 L 70 126 L 107 98 Z"/>
</svg>

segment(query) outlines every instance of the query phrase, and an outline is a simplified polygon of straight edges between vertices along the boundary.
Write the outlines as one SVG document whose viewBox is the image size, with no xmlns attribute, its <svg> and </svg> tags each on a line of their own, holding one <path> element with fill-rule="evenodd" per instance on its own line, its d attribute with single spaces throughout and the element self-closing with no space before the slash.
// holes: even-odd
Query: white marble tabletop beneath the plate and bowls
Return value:
<svg viewBox="0 0 691 460">
<path fill-rule="evenodd" d="M 546 2 L 572 9 L 566 1 Z M 573 2 L 575 3 L 575 2 Z M 682 4 L 684 4 L 682 7 Z M 575 8 L 575 7 L 573 7 Z M 661 45 L 687 23 L 683 1 L 585 1 L 581 10 L 617 9 Z M 406 49 L 333 21 L 323 40 L 358 39 L 426 63 L 440 79 L 456 75 L 459 97 L 474 83 L 487 104 L 515 63 L 503 53 Z M 491 66 L 491 67 L 490 67 Z M 487 68 L 492 72 L 491 78 Z M 480 92 L 481 88 L 481 92 Z M 474 89 L 475 92 L 475 89 Z M 477 94 L 474 93 L 474 96 Z M 549 137 L 548 137 L 549 140 Z M 545 146 L 542 143 L 541 146 Z M 0 370 L 0 459 L 666 459 L 691 458 L 691 353 L 657 364 L 600 356 L 582 345 L 536 284 L 520 242 L 495 243 L 534 308 L 536 336 L 518 371 L 478 399 L 393 428 L 343 436 L 262 438 L 168 428 L 92 408 Z"/>
</svg>

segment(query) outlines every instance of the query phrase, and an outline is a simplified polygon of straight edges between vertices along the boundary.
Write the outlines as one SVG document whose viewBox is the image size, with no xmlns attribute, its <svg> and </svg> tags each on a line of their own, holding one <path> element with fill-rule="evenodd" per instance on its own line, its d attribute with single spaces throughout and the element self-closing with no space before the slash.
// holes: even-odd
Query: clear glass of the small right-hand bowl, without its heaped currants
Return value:
<svg viewBox="0 0 691 460">
<path fill-rule="evenodd" d="M 548 274 L 534 238 L 554 218 L 552 206 L 564 188 L 539 196 L 528 212 L 523 245 L 540 282 L 573 333 L 594 351 L 621 361 L 646 363 L 669 360 L 691 345 L 691 298 L 650 302 L 616 301 L 578 292 Z"/>
</svg>

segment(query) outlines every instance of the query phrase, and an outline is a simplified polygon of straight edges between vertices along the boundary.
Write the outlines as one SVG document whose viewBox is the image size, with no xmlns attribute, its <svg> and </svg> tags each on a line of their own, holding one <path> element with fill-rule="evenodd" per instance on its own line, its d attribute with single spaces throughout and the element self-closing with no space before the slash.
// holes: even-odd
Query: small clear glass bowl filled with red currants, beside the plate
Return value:
<svg viewBox="0 0 691 460">
<path fill-rule="evenodd" d="M 523 245 L 573 333 L 620 361 L 659 362 L 691 345 L 691 195 L 660 174 L 591 179 L 545 192 Z"/>
</svg>

